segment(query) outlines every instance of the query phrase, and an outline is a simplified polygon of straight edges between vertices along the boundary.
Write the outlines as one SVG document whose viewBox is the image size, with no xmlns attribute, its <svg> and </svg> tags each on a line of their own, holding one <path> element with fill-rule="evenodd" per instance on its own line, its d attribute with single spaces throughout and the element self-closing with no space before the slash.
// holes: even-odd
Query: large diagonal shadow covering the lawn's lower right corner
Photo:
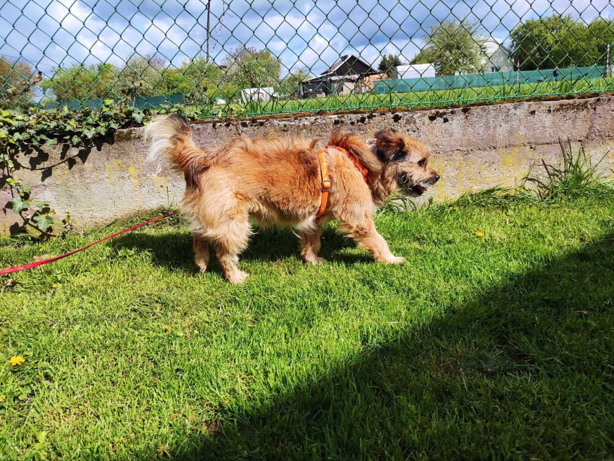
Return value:
<svg viewBox="0 0 614 461">
<path fill-rule="evenodd" d="M 610 233 L 457 293 L 442 316 L 265 405 L 220 409 L 171 458 L 610 459 L 613 297 Z"/>
</svg>

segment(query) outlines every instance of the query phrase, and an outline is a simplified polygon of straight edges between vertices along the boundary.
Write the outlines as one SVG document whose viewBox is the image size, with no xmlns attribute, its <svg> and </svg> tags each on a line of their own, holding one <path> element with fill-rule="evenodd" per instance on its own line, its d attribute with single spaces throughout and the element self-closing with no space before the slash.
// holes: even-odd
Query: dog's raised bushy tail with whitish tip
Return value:
<svg viewBox="0 0 614 461">
<path fill-rule="evenodd" d="M 185 179 L 195 178 L 208 167 L 206 153 L 196 147 L 190 123 L 181 115 L 157 115 L 145 127 L 145 140 L 151 140 L 146 163 L 167 157 L 174 169 L 184 172 Z M 158 163 L 157 172 L 161 171 Z M 189 182 L 189 181 L 188 181 Z"/>
</svg>

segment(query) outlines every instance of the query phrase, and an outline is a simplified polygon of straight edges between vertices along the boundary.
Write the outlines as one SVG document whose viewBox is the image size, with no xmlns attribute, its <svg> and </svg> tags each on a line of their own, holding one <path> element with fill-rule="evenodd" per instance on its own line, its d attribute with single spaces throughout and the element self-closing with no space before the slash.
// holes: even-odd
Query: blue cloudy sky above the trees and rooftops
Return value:
<svg viewBox="0 0 614 461">
<path fill-rule="evenodd" d="M 49 75 L 74 62 L 122 66 L 134 53 L 174 66 L 206 53 L 207 0 L 8 0 L 0 7 L 0 54 Z M 430 25 L 467 18 L 504 39 L 520 21 L 572 14 L 614 16 L 614 0 L 211 0 L 209 47 L 217 63 L 238 45 L 266 47 L 290 69 L 319 74 L 341 55 L 376 67 L 381 55 L 408 62 Z"/>
</svg>

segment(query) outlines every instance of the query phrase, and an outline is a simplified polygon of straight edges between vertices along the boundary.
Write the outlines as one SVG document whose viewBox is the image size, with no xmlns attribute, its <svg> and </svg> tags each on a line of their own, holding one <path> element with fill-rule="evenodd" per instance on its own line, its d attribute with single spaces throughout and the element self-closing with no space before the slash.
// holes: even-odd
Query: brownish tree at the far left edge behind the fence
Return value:
<svg viewBox="0 0 614 461">
<path fill-rule="evenodd" d="M 30 101 L 36 98 L 34 88 L 29 85 L 33 74 L 33 66 L 26 61 L 0 55 L 0 102 L 10 106 L 30 106 Z"/>
</svg>

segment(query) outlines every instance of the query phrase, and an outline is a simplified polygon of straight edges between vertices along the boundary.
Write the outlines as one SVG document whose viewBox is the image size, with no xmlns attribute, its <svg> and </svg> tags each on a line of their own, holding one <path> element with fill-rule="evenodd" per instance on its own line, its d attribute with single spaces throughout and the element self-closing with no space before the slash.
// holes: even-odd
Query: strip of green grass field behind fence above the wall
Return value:
<svg viewBox="0 0 614 461">
<path fill-rule="evenodd" d="M 482 88 L 463 88 L 457 90 L 414 91 L 411 93 L 374 93 L 352 96 L 328 96 L 326 98 L 286 99 L 270 101 L 265 104 L 227 104 L 225 107 L 198 108 L 193 106 L 200 117 L 226 115 L 268 115 L 285 112 L 317 112 L 334 110 L 379 109 L 381 107 L 408 109 L 425 107 L 448 107 L 470 105 L 480 102 L 500 103 L 508 99 L 527 99 L 534 97 L 583 95 L 614 90 L 614 78 L 580 79 L 575 82 L 559 80 L 556 82 L 526 83 L 525 85 L 504 85 Z"/>
</svg>

